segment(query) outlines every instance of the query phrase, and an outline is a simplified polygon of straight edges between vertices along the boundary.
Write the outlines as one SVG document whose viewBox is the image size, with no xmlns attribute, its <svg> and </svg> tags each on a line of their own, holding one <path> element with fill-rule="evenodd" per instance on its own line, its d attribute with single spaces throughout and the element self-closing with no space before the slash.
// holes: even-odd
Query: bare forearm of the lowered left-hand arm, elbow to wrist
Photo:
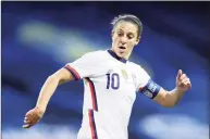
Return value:
<svg viewBox="0 0 210 139">
<path fill-rule="evenodd" d="M 60 80 L 53 76 L 48 77 L 40 90 L 36 108 L 39 108 L 42 111 L 46 110 L 51 96 L 54 93 L 57 87 L 59 86 L 59 81 Z"/>
</svg>

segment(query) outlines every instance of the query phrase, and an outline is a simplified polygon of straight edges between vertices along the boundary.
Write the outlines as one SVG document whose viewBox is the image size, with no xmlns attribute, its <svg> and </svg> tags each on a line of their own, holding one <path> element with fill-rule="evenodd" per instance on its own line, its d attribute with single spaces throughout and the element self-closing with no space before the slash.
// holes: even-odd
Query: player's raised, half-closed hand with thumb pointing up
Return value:
<svg viewBox="0 0 210 139">
<path fill-rule="evenodd" d="M 176 76 L 176 89 L 181 92 L 185 92 L 192 88 L 192 84 L 186 74 L 183 74 L 182 70 L 178 70 Z"/>
</svg>

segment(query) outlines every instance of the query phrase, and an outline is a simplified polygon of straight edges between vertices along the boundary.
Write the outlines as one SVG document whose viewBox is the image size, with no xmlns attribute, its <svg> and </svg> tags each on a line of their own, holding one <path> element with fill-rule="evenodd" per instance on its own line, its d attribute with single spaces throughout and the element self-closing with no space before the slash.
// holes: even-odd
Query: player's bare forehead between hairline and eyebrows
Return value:
<svg viewBox="0 0 210 139">
<path fill-rule="evenodd" d="M 138 26 L 135 25 L 134 23 L 131 23 L 131 22 L 120 21 L 114 26 L 114 29 L 115 30 L 123 30 L 123 31 L 128 31 L 128 33 L 137 34 Z"/>
</svg>

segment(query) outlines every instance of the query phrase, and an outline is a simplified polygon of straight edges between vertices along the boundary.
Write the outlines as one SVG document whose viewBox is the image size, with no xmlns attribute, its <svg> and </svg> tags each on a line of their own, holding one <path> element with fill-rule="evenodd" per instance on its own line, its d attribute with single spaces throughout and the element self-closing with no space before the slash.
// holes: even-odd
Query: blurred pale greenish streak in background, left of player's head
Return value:
<svg viewBox="0 0 210 139">
<path fill-rule="evenodd" d="M 82 37 L 84 34 L 75 28 L 59 29 L 50 24 L 34 21 L 22 25 L 17 36 L 27 47 L 52 54 L 58 62 L 70 62 L 97 49 L 98 46 Z"/>
</svg>

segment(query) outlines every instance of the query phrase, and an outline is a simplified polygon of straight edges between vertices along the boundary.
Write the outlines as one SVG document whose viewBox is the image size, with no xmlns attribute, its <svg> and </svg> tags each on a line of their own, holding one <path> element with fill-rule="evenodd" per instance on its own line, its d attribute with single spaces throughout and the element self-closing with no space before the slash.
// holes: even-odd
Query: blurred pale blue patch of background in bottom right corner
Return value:
<svg viewBox="0 0 210 139">
<path fill-rule="evenodd" d="M 156 114 L 147 116 L 138 126 L 145 134 L 155 139 L 208 139 L 209 127 L 183 114 Z"/>
</svg>

